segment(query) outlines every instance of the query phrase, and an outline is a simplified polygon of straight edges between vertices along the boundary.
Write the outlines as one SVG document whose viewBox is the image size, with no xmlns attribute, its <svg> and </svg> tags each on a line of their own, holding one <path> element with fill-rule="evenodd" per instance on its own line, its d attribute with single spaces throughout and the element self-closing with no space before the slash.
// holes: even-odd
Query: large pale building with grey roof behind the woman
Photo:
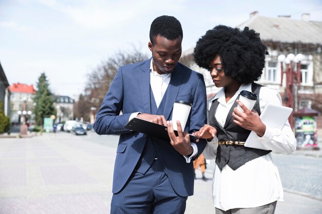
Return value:
<svg viewBox="0 0 322 214">
<path fill-rule="evenodd" d="M 288 101 L 291 100 L 295 112 L 304 107 L 318 111 L 317 128 L 321 135 L 322 22 L 310 21 L 309 14 L 302 14 L 301 20 L 294 20 L 290 16 L 260 16 L 255 11 L 250 14 L 249 20 L 237 27 L 249 27 L 260 33 L 260 38 L 269 51 L 258 83 L 277 90 L 281 94 L 283 105 L 288 106 Z M 192 50 L 186 54 L 191 54 Z M 286 62 L 285 57 L 288 59 Z M 290 87 L 286 75 L 289 65 L 292 65 L 290 70 L 294 76 L 298 75 L 292 83 L 292 95 L 287 93 L 287 87 Z M 207 70 L 195 64 L 190 67 L 204 74 L 208 98 L 219 91 Z"/>
</svg>

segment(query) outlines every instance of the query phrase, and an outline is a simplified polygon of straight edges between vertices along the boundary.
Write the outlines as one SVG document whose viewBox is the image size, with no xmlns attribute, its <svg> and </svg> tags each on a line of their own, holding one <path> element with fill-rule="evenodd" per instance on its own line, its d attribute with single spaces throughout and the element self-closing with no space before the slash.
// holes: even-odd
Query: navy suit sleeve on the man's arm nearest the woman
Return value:
<svg viewBox="0 0 322 214">
<path fill-rule="evenodd" d="M 207 123 L 207 95 L 206 95 L 206 86 L 202 74 L 198 74 L 198 84 L 196 85 L 196 90 L 193 96 L 193 105 L 191 108 L 190 116 L 190 133 L 198 131 Z M 194 156 L 192 160 L 195 160 L 203 152 L 206 147 L 206 140 L 200 139 L 196 143 L 198 147 L 198 153 Z"/>
</svg>

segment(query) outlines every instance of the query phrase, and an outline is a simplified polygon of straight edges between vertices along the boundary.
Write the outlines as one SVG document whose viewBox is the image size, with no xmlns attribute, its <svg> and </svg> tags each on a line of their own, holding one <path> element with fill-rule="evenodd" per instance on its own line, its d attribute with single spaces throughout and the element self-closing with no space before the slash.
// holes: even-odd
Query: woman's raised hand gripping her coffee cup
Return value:
<svg viewBox="0 0 322 214">
<path fill-rule="evenodd" d="M 234 112 L 232 112 L 232 116 L 234 117 L 234 123 L 243 127 L 244 129 L 255 131 L 258 137 L 263 137 L 266 126 L 260 120 L 257 111 L 250 111 L 242 102 L 239 100 L 236 101 L 238 105 L 244 110 L 241 112 L 234 108 Z"/>
</svg>

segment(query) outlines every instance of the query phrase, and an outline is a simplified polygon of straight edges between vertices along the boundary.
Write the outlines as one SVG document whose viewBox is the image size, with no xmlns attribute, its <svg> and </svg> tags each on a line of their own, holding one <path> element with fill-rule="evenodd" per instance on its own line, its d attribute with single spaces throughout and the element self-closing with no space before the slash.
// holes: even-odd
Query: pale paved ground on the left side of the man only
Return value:
<svg viewBox="0 0 322 214">
<path fill-rule="evenodd" d="M 115 151 L 66 137 L 0 139 L 1 214 L 110 212 Z"/>
</svg>

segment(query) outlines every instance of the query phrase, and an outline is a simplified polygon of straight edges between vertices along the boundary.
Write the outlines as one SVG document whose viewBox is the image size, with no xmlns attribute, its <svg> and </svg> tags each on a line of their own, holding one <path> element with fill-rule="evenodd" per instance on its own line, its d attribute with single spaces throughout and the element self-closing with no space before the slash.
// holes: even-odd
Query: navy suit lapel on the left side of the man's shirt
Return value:
<svg viewBox="0 0 322 214">
<path fill-rule="evenodd" d="M 150 98 L 150 60 L 142 65 L 139 72 L 139 87 L 141 91 L 141 101 L 144 107 L 144 113 L 151 114 Z"/>
</svg>

